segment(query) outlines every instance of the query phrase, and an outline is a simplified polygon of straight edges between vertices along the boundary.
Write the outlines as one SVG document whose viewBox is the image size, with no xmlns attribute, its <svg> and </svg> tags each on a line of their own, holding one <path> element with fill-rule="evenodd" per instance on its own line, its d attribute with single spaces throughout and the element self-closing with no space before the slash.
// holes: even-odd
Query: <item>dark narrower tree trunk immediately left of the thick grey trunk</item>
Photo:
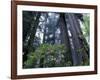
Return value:
<svg viewBox="0 0 100 80">
<path fill-rule="evenodd" d="M 68 37 L 68 28 L 66 25 L 65 13 L 60 14 L 59 26 L 60 26 L 60 30 L 61 30 L 61 42 L 62 42 L 62 44 L 65 44 L 66 49 L 68 50 L 67 54 L 65 54 L 65 60 L 72 62 L 72 57 L 71 57 L 71 53 L 70 53 L 71 45 L 70 45 L 70 40 Z"/>
</svg>

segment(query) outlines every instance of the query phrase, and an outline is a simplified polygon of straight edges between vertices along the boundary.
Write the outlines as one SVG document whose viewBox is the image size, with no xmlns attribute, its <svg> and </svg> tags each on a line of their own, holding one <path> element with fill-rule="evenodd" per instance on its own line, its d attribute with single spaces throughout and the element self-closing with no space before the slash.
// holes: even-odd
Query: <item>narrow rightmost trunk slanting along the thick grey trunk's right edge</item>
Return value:
<svg viewBox="0 0 100 80">
<path fill-rule="evenodd" d="M 75 24 L 77 24 L 75 27 L 76 27 L 76 32 L 77 32 L 77 35 L 78 35 L 78 39 L 79 39 L 79 42 L 81 44 L 81 48 L 82 48 L 82 61 L 83 63 L 85 63 L 85 61 L 88 61 L 89 60 L 89 46 L 88 46 L 88 43 L 83 35 L 83 32 L 82 32 L 82 29 L 81 29 L 81 26 L 79 24 L 79 21 L 78 21 L 78 18 L 77 16 L 75 16 L 74 14 L 74 22 Z"/>
</svg>

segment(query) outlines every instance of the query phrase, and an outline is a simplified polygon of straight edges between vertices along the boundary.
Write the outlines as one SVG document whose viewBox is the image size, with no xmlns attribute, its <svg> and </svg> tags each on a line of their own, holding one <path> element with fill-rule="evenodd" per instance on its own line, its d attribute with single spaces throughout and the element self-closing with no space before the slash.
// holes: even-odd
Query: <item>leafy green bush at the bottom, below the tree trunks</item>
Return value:
<svg viewBox="0 0 100 80">
<path fill-rule="evenodd" d="M 67 53 L 68 50 L 63 44 L 41 44 L 28 54 L 24 68 L 71 66 L 72 62 L 65 59 Z"/>
</svg>

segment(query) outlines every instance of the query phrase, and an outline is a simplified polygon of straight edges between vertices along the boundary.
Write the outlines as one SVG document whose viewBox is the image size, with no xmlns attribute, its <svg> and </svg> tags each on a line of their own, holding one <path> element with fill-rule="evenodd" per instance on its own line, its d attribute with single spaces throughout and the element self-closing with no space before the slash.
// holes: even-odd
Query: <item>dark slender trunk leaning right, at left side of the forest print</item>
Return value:
<svg viewBox="0 0 100 80">
<path fill-rule="evenodd" d="M 27 60 L 27 54 L 31 51 L 34 37 L 35 37 L 35 33 L 36 33 L 36 30 L 38 27 L 40 15 L 41 15 L 41 13 L 37 13 L 36 20 L 31 23 L 30 36 L 28 36 L 30 38 L 27 42 L 27 47 L 25 48 L 26 50 L 25 50 L 24 55 L 23 55 L 23 62 L 25 62 Z"/>
</svg>

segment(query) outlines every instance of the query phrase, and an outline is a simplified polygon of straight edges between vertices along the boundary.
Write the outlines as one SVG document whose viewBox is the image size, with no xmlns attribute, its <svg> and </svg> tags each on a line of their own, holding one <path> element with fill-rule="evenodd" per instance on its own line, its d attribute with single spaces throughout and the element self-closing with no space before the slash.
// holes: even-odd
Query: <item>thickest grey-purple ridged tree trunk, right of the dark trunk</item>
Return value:
<svg viewBox="0 0 100 80">
<path fill-rule="evenodd" d="M 84 37 L 82 34 L 82 30 L 80 28 L 80 24 L 78 19 L 76 18 L 75 14 L 73 13 L 67 13 L 66 14 L 68 17 L 68 23 L 70 25 L 69 30 L 72 34 L 72 43 L 73 43 L 73 48 L 75 53 L 72 53 L 73 56 L 73 62 L 74 65 L 81 65 L 83 61 L 83 58 L 87 60 L 87 54 L 86 54 L 86 49 L 84 44 Z M 84 59 L 84 60 L 85 60 Z M 75 63 L 74 60 L 77 60 L 77 63 Z"/>
</svg>

